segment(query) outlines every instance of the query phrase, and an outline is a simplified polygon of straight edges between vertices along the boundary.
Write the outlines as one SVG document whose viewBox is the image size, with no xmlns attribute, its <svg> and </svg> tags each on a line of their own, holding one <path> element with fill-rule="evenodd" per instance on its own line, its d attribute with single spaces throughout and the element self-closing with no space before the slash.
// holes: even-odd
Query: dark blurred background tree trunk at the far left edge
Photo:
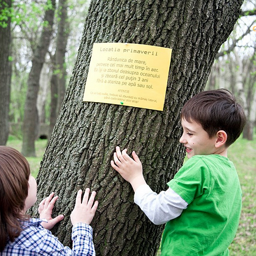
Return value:
<svg viewBox="0 0 256 256">
<path fill-rule="evenodd" d="M 0 14 L 2 15 L 4 9 L 10 11 L 11 7 L 11 0 L 3 0 L 0 4 Z M 11 57 L 12 45 L 11 16 L 6 18 L 7 21 L 5 22 L 2 19 L 3 25 L 0 24 L 0 145 L 6 145 L 9 135 L 9 105 L 12 75 L 12 62 L 9 59 Z"/>
</svg>

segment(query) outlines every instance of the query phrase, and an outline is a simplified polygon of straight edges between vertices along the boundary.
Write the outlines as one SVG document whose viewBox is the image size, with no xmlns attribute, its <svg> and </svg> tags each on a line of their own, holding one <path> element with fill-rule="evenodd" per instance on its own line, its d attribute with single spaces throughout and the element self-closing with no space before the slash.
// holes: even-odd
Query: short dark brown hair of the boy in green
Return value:
<svg viewBox="0 0 256 256">
<path fill-rule="evenodd" d="M 239 137 L 246 123 L 242 106 L 226 89 L 204 91 L 195 95 L 184 105 L 181 118 L 201 124 L 210 138 L 219 130 L 225 131 L 227 147 Z"/>
</svg>

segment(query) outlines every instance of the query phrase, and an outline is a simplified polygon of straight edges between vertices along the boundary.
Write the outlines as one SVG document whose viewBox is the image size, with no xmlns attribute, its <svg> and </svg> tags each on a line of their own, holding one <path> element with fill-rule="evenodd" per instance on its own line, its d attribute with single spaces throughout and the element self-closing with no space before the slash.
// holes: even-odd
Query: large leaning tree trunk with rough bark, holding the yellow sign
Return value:
<svg viewBox="0 0 256 256">
<path fill-rule="evenodd" d="M 183 163 L 180 111 L 202 91 L 214 57 L 239 17 L 242 0 L 92 0 L 63 105 L 38 175 L 38 198 L 55 191 L 53 230 L 70 245 L 69 214 L 78 189 L 100 202 L 92 226 L 97 255 L 155 255 L 163 226 L 150 223 L 133 192 L 110 166 L 115 146 L 135 150 L 151 188 L 166 190 Z M 121 42 L 173 49 L 163 111 L 82 102 L 93 43 Z M 36 206 L 31 212 L 36 212 Z"/>
</svg>

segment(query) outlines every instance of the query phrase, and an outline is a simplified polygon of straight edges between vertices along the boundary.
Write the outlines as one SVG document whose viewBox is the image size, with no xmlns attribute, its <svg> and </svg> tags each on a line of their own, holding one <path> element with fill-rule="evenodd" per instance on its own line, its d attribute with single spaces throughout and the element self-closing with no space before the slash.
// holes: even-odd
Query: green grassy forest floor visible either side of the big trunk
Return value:
<svg viewBox="0 0 256 256">
<path fill-rule="evenodd" d="M 256 136 L 255 136 L 256 137 Z M 21 151 L 22 141 L 10 136 L 8 146 Z M 256 138 L 253 141 L 241 137 L 230 146 L 228 157 L 236 166 L 242 188 L 242 212 L 236 236 L 229 246 L 230 256 L 256 255 Z M 36 141 L 37 157 L 27 157 L 31 173 L 37 176 L 47 140 Z M 160 250 L 157 255 L 160 255 Z"/>
</svg>

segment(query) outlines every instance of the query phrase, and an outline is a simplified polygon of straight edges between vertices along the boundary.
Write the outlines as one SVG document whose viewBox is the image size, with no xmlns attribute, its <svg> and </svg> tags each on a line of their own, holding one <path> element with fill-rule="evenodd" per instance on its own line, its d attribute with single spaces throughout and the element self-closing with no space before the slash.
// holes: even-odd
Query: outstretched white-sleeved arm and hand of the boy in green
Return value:
<svg viewBox="0 0 256 256">
<path fill-rule="evenodd" d="M 180 216 L 183 209 L 187 208 L 188 203 L 172 189 L 162 191 L 158 195 L 153 192 L 144 180 L 139 157 L 133 151 L 133 160 L 126 152 L 127 149 L 121 152 L 117 146 L 111 165 L 132 185 L 135 192 L 134 202 L 157 225 Z"/>
</svg>

